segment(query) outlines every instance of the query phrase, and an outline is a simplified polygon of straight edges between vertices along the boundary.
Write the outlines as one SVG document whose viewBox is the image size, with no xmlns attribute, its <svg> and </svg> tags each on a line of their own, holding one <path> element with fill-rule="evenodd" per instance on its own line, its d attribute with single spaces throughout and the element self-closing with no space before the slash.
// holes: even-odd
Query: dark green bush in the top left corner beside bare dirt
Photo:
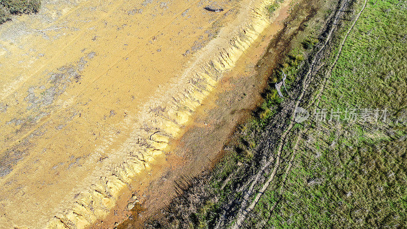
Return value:
<svg viewBox="0 0 407 229">
<path fill-rule="evenodd" d="M 37 13 L 40 0 L 0 0 L 0 24 L 11 20 L 13 14 Z"/>
</svg>

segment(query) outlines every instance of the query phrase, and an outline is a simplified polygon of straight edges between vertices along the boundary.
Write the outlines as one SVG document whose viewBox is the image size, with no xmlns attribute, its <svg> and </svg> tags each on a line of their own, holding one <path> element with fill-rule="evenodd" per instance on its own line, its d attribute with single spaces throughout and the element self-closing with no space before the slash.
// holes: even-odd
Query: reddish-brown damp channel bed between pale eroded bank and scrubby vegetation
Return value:
<svg viewBox="0 0 407 229">
<path fill-rule="evenodd" d="M 261 92 L 267 87 L 273 69 L 271 66 L 277 64 L 288 47 L 289 42 L 282 40 L 283 33 L 280 31 L 288 25 L 285 20 L 293 5 L 292 2 L 275 12 L 277 17 L 271 25 L 202 101 L 183 129 L 185 133 L 175 142 L 171 141 L 171 146 L 176 145 L 176 148 L 168 150 L 168 167 L 152 165 L 148 182 L 140 181 L 143 185 L 130 190 L 125 199 L 123 196 L 126 194 L 121 194 L 118 206 L 103 222 L 98 220 L 92 228 L 115 225 L 116 222 L 122 222 L 118 228 L 143 228 L 146 220 L 160 218 L 162 209 L 171 203 L 171 199 L 182 195 L 180 191 L 182 193 L 182 187 L 189 178 L 211 170 L 214 163 L 224 156 L 223 148 L 234 138 L 235 128 L 245 122 L 263 101 Z M 120 217 L 121 209 L 126 205 L 135 207 Z"/>
</svg>

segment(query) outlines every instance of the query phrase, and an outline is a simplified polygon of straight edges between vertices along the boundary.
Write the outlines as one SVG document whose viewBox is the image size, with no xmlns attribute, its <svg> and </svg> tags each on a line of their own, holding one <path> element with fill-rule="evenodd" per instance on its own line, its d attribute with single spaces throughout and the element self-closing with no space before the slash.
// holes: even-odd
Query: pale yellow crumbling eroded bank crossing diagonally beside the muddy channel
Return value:
<svg viewBox="0 0 407 229">
<path fill-rule="evenodd" d="M 140 129 L 109 155 L 66 199 L 47 224 L 50 228 L 85 227 L 106 216 L 117 196 L 150 163 L 164 156 L 170 138 L 177 137 L 201 101 L 216 87 L 222 73 L 235 66 L 242 53 L 270 24 L 271 1 L 242 4 L 240 13 L 210 41 L 184 74 L 157 90 L 138 113 Z M 285 3 L 287 4 L 287 3 Z M 91 184 L 91 185 L 90 185 Z"/>
</svg>

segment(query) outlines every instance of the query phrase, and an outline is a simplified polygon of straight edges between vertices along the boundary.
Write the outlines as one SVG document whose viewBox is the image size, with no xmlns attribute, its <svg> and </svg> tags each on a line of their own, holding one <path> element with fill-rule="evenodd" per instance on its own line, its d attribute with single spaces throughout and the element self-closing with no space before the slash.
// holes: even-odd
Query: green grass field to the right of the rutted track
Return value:
<svg viewBox="0 0 407 229">
<path fill-rule="evenodd" d="M 341 117 L 339 122 L 310 124 L 293 166 L 287 174 L 281 166 L 279 179 L 260 199 L 247 225 L 406 226 L 406 25 L 405 2 L 368 2 L 319 104 L 327 110 L 386 107 L 387 121 L 347 122 Z M 293 152 L 288 148 L 285 153 Z"/>
</svg>

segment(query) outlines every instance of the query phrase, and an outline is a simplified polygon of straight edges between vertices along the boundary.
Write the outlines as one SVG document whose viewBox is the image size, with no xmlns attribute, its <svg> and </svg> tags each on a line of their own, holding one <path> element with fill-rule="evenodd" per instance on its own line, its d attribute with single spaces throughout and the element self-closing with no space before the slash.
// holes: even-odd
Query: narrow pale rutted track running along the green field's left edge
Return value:
<svg viewBox="0 0 407 229">
<path fill-rule="evenodd" d="M 285 148 L 289 147 L 289 136 L 293 133 L 298 132 L 298 125 L 295 125 L 294 116 L 292 115 L 295 107 L 306 106 L 307 102 L 311 99 L 311 95 L 315 88 L 312 86 L 318 85 L 320 81 L 316 77 L 316 73 L 322 66 L 322 59 L 329 55 L 330 47 L 332 43 L 335 43 L 336 34 L 339 25 L 341 25 L 341 20 L 339 18 L 345 17 L 345 12 L 350 9 L 351 2 L 339 1 L 335 11 L 331 14 L 330 18 L 327 20 L 326 27 L 322 33 L 321 42 L 314 48 L 314 51 L 308 55 L 307 61 L 297 72 L 298 81 L 294 84 L 292 94 L 290 98 L 284 100 L 278 108 L 276 115 L 273 116 L 273 120 L 267 124 L 267 127 L 261 134 L 263 137 L 258 142 L 256 147 L 256 154 L 261 158 L 259 161 L 261 163 L 258 165 L 260 169 L 257 169 L 257 175 L 255 179 L 247 181 L 246 184 L 250 184 L 249 189 L 243 190 L 245 193 L 242 199 L 237 198 L 236 207 L 226 209 L 225 212 L 229 214 L 224 220 L 225 222 L 221 225 L 218 222 L 218 227 L 225 227 L 227 225 L 233 224 L 235 220 L 234 211 L 239 212 L 237 216 L 237 221 L 234 222 L 234 228 L 238 228 L 243 223 L 242 220 L 246 218 L 247 214 L 251 213 L 251 209 L 254 208 L 258 199 L 256 195 L 261 195 L 265 190 L 261 188 L 269 183 L 276 176 L 277 169 L 280 167 L 280 162 L 287 162 L 289 159 L 284 158 L 282 151 L 286 151 Z M 281 125 L 283 123 L 283 125 Z M 281 125 L 280 128 L 276 128 L 276 125 Z M 294 134 L 295 136 L 296 134 Z M 271 165 L 269 165 L 271 164 Z M 269 179 L 267 180 L 267 178 Z M 256 187 L 255 189 L 252 187 Z M 260 189 L 261 188 L 261 189 Z M 251 203 L 250 206 L 249 203 Z M 236 209 L 236 210 L 235 210 Z M 232 214 L 230 214 L 232 213 Z M 258 226 L 258 225 L 257 225 Z"/>
</svg>

